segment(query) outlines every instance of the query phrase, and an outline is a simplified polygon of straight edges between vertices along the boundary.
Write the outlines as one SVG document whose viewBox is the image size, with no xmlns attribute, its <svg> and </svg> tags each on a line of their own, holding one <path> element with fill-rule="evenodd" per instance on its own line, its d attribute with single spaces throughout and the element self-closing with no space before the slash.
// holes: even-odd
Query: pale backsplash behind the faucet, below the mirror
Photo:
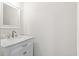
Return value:
<svg viewBox="0 0 79 59">
<path fill-rule="evenodd" d="M 19 28 L 0 28 L 0 39 L 12 37 L 12 31 L 15 31 L 17 36 L 20 34 Z"/>
</svg>

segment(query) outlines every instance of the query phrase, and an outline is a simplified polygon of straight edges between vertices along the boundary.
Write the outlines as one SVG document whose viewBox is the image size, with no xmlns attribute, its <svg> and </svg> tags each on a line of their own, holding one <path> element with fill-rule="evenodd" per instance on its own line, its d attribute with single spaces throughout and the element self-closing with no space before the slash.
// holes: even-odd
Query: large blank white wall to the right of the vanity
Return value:
<svg viewBox="0 0 79 59">
<path fill-rule="evenodd" d="M 24 3 L 23 28 L 35 36 L 34 55 L 77 55 L 76 3 Z"/>
</svg>

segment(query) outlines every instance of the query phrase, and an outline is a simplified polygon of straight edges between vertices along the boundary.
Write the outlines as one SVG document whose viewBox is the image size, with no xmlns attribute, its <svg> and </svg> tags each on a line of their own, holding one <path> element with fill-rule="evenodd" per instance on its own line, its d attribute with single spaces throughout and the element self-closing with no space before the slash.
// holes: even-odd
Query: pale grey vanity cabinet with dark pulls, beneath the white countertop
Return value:
<svg viewBox="0 0 79 59">
<path fill-rule="evenodd" d="M 12 46 L 1 48 L 2 56 L 33 56 L 33 39 L 28 39 Z"/>
</svg>

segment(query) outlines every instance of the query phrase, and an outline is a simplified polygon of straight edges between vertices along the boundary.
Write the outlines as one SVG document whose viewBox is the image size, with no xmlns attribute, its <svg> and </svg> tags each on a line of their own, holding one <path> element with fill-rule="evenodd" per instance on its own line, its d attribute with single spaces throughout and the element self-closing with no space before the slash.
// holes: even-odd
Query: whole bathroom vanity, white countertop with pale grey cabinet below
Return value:
<svg viewBox="0 0 79 59">
<path fill-rule="evenodd" d="M 1 56 L 33 56 L 32 36 L 1 40 Z"/>
</svg>

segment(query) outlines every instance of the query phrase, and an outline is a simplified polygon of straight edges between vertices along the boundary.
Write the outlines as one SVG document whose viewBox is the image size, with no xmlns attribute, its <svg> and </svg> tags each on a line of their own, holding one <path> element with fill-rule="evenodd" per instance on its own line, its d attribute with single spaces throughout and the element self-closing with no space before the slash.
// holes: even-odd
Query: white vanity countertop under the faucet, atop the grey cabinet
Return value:
<svg viewBox="0 0 79 59">
<path fill-rule="evenodd" d="M 16 38 L 1 39 L 1 47 L 8 47 L 31 38 L 32 36 L 30 35 L 20 35 Z"/>
</svg>

